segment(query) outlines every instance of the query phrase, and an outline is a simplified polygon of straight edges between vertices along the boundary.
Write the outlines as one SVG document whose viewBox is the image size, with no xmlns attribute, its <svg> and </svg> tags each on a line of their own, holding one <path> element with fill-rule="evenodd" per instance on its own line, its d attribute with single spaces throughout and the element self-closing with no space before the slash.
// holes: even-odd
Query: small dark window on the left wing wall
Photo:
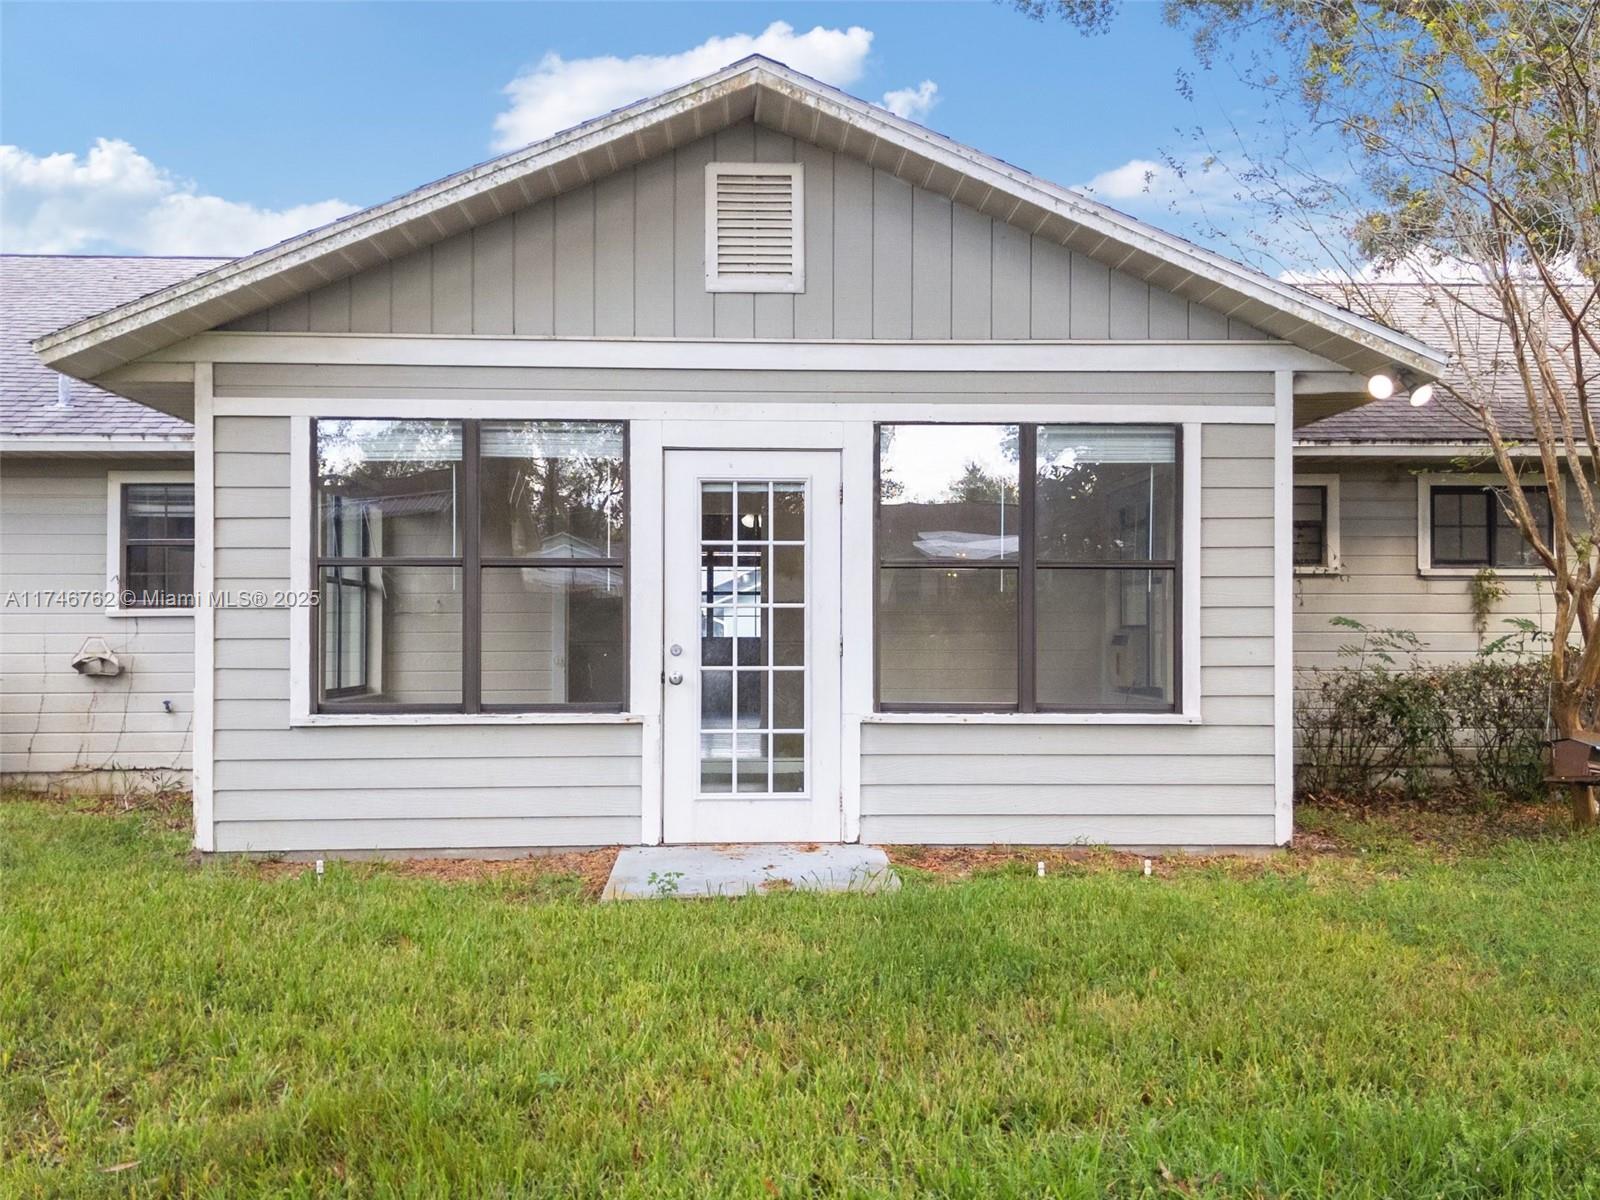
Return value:
<svg viewBox="0 0 1600 1200">
<path fill-rule="evenodd" d="M 194 608 L 195 485 L 118 486 L 115 608 Z"/>
</svg>

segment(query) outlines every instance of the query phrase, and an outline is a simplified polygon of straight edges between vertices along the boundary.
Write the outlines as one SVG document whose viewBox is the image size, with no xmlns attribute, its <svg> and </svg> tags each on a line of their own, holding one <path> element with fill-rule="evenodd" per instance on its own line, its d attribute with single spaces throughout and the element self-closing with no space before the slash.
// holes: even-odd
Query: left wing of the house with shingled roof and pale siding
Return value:
<svg viewBox="0 0 1600 1200">
<path fill-rule="evenodd" d="M 34 338 L 226 259 L 0 256 L 0 778 L 85 790 L 187 787 L 194 619 L 122 602 L 133 558 L 194 557 L 186 419 L 58 374 Z M 178 507 L 178 528 L 157 509 Z M 128 517 L 125 522 L 123 517 Z M 174 533 L 179 546 L 146 534 Z M 104 650 L 115 674 L 72 661 Z M 86 667 L 88 662 L 80 664 Z"/>
</svg>

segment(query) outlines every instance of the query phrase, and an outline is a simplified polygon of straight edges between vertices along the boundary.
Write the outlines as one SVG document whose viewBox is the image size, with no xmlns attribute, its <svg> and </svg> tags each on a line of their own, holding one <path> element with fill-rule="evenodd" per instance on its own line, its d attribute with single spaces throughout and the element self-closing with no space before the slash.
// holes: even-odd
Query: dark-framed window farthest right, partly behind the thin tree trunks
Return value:
<svg viewBox="0 0 1600 1200">
<path fill-rule="evenodd" d="M 1523 485 L 1523 496 L 1550 539 L 1550 496 L 1544 485 Z M 1432 571 L 1534 571 L 1539 557 L 1510 517 L 1504 486 L 1474 477 L 1422 480 L 1418 510 L 1421 566 Z"/>
</svg>

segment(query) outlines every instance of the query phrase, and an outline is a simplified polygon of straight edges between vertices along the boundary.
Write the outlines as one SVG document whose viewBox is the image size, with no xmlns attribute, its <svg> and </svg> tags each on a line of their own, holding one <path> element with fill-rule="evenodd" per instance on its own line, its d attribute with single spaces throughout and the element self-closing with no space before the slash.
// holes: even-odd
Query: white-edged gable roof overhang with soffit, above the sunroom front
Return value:
<svg viewBox="0 0 1600 1200">
<path fill-rule="evenodd" d="M 752 118 L 949 195 L 1154 286 L 1370 373 L 1435 376 L 1440 352 L 877 106 L 752 56 L 661 96 L 40 338 L 59 371 L 94 378 L 290 296 L 440 242 L 674 146 Z"/>
</svg>

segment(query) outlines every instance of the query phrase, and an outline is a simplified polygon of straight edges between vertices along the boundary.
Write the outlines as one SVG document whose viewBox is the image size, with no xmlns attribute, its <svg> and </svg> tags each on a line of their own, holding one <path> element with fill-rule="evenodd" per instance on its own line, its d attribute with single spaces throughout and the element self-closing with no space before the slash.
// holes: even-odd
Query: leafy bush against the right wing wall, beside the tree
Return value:
<svg viewBox="0 0 1600 1200">
<path fill-rule="evenodd" d="M 1301 790 L 1346 797 L 1400 787 L 1480 802 L 1544 792 L 1549 667 L 1525 621 L 1470 662 L 1424 666 L 1421 640 L 1334 618 L 1360 637 L 1346 666 L 1299 674 L 1294 730 Z"/>
</svg>

